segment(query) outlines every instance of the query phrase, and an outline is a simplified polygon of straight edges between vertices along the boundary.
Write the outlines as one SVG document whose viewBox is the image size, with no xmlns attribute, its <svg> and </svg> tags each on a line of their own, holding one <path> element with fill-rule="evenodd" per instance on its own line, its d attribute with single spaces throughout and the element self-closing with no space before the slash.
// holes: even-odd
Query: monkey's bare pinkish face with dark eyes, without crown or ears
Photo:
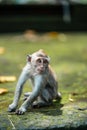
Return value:
<svg viewBox="0 0 87 130">
<path fill-rule="evenodd" d="M 32 62 L 33 62 L 35 72 L 40 74 L 46 72 L 49 65 L 48 59 L 44 57 L 38 57 Z"/>
</svg>

